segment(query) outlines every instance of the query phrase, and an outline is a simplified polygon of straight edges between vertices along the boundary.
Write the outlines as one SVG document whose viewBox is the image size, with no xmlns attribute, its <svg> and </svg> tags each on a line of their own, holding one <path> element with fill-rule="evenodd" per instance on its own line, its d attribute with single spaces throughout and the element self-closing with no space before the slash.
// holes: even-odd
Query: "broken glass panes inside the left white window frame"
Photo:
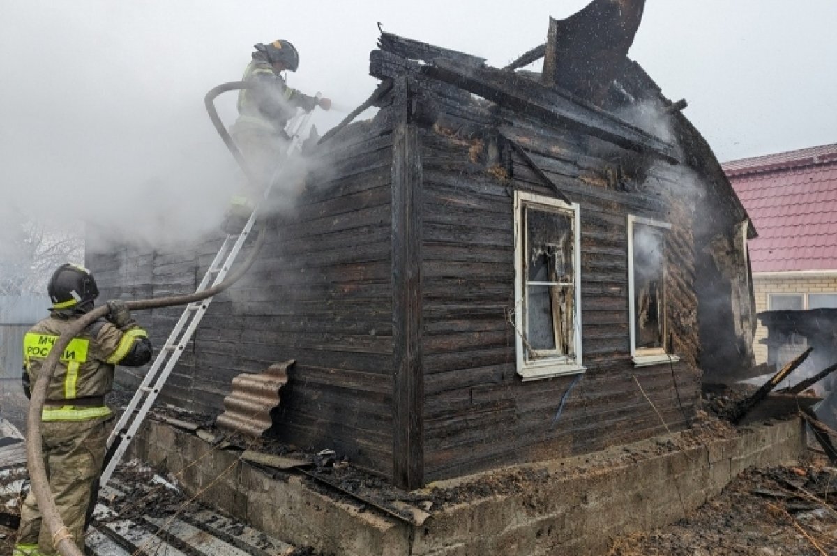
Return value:
<svg viewBox="0 0 837 556">
<path fill-rule="evenodd" d="M 574 357 L 573 215 L 526 207 L 524 219 L 529 358 Z"/>
</svg>

